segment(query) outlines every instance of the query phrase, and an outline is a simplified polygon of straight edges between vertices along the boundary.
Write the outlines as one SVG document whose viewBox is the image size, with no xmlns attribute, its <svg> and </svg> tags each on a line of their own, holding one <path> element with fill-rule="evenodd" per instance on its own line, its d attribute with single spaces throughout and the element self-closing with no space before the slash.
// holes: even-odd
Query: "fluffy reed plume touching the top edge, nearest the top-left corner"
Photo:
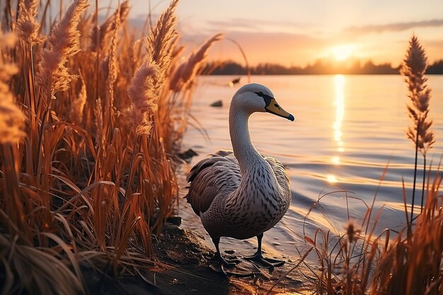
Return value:
<svg viewBox="0 0 443 295">
<path fill-rule="evenodd" d="M 25 42 L 29 42 L 31 46 L 42 41 L 42 38 L 38 35 L 40 23 L 35 18 L 37 16 L 38 3 L 38 0 L 21 0 L 19 4 L 20 16 L 16 23 L 16 32 Z"/>
</svg>

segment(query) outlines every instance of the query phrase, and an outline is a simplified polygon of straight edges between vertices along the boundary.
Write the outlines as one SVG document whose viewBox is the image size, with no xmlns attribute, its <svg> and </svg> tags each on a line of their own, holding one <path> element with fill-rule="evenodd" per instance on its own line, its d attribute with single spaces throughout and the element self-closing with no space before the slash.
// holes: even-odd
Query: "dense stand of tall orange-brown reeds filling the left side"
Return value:
<svg viewBox="0 0 443 295">
<path fill-rule="evenodd" d="M 42 4 L 1 7 L 2 294 L 84 293 L 84 265 L 117 275 L 155 263 L 205 60 L 182 61 L 177 0 L 146 36 L 128 25 L 128 1 L 98 23 L 99 8 L 75 0 L 51 28 Z"/>
</svg>

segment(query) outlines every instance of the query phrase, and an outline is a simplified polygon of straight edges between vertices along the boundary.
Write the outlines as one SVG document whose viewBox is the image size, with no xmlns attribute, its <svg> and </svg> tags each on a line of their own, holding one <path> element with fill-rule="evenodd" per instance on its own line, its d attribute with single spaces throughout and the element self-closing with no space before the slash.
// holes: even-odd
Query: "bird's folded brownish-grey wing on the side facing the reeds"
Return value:
<svg viewBox="0 0 443 295">
<path fill-rule="evenodd" d="M 195 214 L 206 212 L 216 196 L 226 197 L 240 183 L 240 167 L 232 151 L 217 151 L 190 170 L 186 180 L 190 187 L 186 199 Z"/>
</svg>

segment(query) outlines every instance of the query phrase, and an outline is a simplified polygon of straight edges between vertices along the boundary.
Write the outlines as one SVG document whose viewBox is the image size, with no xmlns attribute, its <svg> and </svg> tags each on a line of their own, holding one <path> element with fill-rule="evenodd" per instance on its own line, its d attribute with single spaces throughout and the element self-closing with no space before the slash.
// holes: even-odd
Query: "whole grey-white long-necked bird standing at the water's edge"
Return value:
<svg viewBox="0 0 443 295">
<path fill-rule="evenodd" d="M 263 233 L 275 226 L 291 203 L 289 176 L 282 163 L 262 156 L 251 142 L 248 121 L 253 112 L 269 112 L 294 121 L 283 110 L 272 91 L 258 83 L 242 86 L 229 108 L 229 134 L 234 151 L 221 150 L 192 167 L 186 199 L 212 238 L 217 250 L 218 270 L 233 264 L 220 254 L 221 237 L 239 240 L 257 237 L 257 252 L 248 258 L 262 267 L 284 261 L 263 258 Z M 214 267 L 213 267 L 214 268 Z M 233 272 L 231 272 L 233 273 Z"/>
</svg>

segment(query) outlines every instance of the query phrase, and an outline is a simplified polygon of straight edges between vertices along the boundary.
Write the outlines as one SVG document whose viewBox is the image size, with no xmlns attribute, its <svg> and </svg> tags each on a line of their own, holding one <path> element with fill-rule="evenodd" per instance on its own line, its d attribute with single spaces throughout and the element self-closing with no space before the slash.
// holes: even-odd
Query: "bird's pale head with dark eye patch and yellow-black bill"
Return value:
<svg viewBox="0 0 443 295">
<path fill-rule="evenodd" d="M 234 94 L 232 104 L 236 108 L 252 114 L 253 112 L 270 112 L 271 114 L 294 121 L 294 116 L 277 103 L 269 88 L 257 83 L 246 84 Z"/>
</svg>

